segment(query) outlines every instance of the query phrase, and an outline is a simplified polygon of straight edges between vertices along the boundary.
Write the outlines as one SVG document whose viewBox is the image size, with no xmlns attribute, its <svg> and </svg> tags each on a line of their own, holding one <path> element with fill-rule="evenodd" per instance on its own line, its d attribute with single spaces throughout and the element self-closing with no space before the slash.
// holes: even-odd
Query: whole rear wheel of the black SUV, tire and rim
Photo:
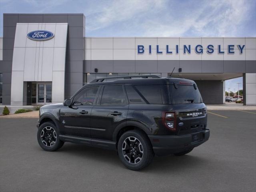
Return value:
<svg viewBox="0 0 256 192">
<path fill-rule="evenodd" d="M 118 141 L 118 156 L 130 170 L 141 170 L 147 167 L 154 152 L 147 135 L 140 130 L 127 131 Z"/>
</svg>

